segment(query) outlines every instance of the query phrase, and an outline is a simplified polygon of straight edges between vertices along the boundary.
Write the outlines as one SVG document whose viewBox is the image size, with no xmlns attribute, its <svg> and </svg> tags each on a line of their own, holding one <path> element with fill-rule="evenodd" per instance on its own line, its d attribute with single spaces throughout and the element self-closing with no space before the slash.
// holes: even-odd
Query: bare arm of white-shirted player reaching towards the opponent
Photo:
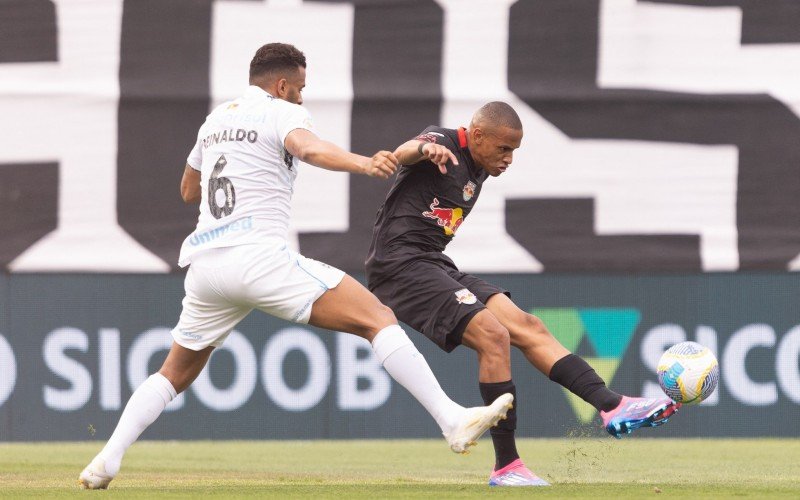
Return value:
<svg viewBox="0 0 800 500">
<path fill-rule="evenodd" d="M 397 170 L 397 158 L 389 151 L 378 151 L 372 158 L 345 151 L 306 129 L 289 132 L 286 150 L 306 163 L 326 170 L 364 174 L 386 179 Z"/>
</svg>

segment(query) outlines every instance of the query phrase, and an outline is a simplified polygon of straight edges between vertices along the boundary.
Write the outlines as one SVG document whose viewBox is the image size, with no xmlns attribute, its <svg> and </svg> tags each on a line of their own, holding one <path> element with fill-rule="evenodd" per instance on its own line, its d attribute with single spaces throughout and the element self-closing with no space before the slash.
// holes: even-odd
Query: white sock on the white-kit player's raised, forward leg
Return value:
<svg viewBox="0 0 800 500">
<path fill-rule="evenodd" d="M 400 385 L 405 387 L 447 433 L 463 407 L 444 393 L 431 371 L 400 325 L 387 326 L 372 339 L 372 350 L 383 367 Z"/>
</svg>

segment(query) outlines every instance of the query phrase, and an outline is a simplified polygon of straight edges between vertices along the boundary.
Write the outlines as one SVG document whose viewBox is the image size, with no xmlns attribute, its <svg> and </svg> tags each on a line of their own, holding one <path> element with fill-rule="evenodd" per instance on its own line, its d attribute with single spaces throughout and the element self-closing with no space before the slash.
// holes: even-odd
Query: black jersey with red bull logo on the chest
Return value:
<svg viewBox="0 0 800 500">
<path fill-rule="evenodd" d="M 400 166 L 372 230 L 366 262 L 370 286 L 413 259 L 445 259 L 452 264 L 441 252 L 475 206 L 489 175 L 473 161 L 463 128 L 430 126 L 415 139 L 446 146 L 459 164 L 448 164 L 447 174 L 430 161 Z"/>
</svg>

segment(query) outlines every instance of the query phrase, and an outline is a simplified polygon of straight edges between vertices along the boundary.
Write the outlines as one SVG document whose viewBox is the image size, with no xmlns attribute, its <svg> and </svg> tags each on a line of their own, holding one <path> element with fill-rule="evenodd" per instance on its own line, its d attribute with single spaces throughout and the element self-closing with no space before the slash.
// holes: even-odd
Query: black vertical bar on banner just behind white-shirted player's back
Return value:
<svg viewBox="0 0 800 500">
<path fill-rule="evenodd" d="M 117 211 L 119 224 L 177 268 L 197 206 L 179 194 L 186 157 L 209 112 L 212 0 L 123 6 Z"/>
</svg>

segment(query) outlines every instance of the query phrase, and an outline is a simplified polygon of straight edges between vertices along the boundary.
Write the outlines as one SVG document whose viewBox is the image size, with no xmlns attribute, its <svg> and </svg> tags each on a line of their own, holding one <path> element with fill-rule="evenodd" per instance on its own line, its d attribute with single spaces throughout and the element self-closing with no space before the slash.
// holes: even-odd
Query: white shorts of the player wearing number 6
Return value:
<svg viewBox="0 0 800 500">
<path fill-rule="evenodd" d="M 280 239 L 205 250 L 186 273 L 172 337 L 195 351 L 220 346 L 253 309 L 308 323 L 312 304 L 343 278 L 343 271 L 289 250 Z"/>
</svg>

